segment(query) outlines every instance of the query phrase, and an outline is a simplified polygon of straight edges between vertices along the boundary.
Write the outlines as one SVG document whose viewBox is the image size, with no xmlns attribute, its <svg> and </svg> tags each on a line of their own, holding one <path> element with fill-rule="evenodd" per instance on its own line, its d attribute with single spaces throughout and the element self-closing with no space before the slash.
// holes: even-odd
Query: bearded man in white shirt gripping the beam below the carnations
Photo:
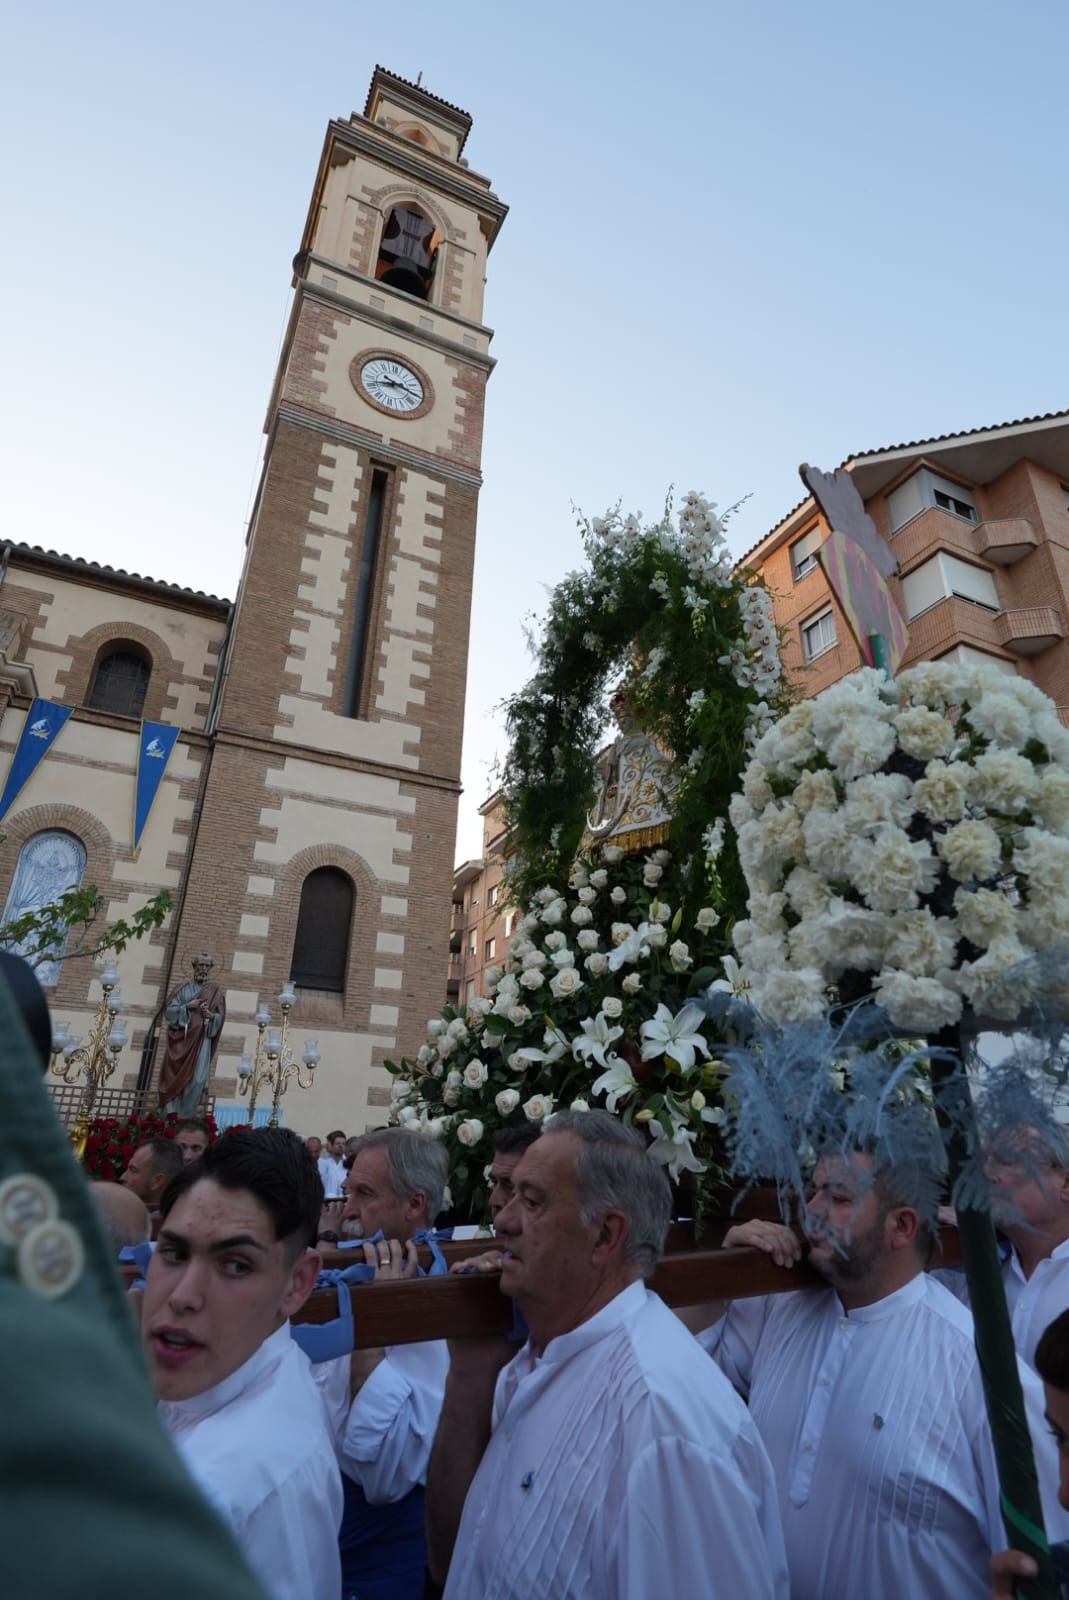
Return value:
<svg viewBox="0 0 1069 1600">
<path fill-rule="evenodd" d="M 771 1458 L 792 1600 L 986 1600 L 1005 1544 L 971 1317 L 923 1270 L 925 1189 L 866 1155 L 819 1162 L 808 1259 L 829 1288 L 738 1301 L 701 1336 Z M 781 1266 L 803 1253 L 762 1221 L 723 1243 Z M 1050 1486 L 1042 1392 L 1024 1366 L 1021 1381 Z"/>
</svg>

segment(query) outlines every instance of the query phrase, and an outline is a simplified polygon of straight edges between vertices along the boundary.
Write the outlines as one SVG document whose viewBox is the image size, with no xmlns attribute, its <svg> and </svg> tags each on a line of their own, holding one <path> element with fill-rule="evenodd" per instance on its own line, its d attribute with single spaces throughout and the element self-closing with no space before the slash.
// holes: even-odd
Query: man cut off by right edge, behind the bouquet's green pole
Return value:
<svg viewBox="0 0 1069 1600">
<path fill-rule="evenodd" d="M 1010 1242 L 1002 1282 L 1021 1360 L 1035 1366 L 1045 1328 L 1069 1310 L 1069 1139 L 1061 1128 L 1015 1125 L 992 1142 L 987 1160 L 991 1214 Z M 960 1269 L 939 1269 L 968 1306 Z"/>
</svg>

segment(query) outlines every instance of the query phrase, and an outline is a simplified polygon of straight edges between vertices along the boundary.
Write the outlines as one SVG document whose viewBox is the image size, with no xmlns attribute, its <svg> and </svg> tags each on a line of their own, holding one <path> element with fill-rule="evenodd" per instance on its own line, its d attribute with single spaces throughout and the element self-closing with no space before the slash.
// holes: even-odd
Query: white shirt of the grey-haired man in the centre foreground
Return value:
<svg viewBox="0 0 1069 1600">
<path fill-rule="evenodd" d="M 498 1378 L 445 1595 L 786 1600 L 757 1430 L 643 1283 Z"/>
</svg>

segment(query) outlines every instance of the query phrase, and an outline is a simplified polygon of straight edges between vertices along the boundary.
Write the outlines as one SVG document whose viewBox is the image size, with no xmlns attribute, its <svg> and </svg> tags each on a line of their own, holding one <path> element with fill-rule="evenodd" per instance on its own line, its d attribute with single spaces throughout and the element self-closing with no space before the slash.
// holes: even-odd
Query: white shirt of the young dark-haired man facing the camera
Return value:
<svg viewBox="0 0 1069 1600">
<path fill-rule="evenodd" d="M 290 1323 L 160 1418 L 194 1478 L 234 1528 L 274 1600 L 338 1600 L 341 1477 L 309 1360 Z"/>
</svg>

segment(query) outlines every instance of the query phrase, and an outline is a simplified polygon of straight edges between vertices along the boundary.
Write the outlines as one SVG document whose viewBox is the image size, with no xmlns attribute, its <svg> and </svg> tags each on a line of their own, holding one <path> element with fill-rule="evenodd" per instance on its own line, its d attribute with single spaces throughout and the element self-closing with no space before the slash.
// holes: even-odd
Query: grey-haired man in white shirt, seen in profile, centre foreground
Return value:
<svg viewBox="0 0 1069 1600">
<path fill-rule="evenodd" d="M 530 1339 L 502 1373 L 485 1341 L 456 1344 L 430 1576 L 448 1568 L 446 1600 L 784 1600 L 757 1430 L 643 1283 L 669 1224 L 664 1170 L 616 1117 L 565 1112 L 514 1184 L 501 1288 Z"/>
</svg>

